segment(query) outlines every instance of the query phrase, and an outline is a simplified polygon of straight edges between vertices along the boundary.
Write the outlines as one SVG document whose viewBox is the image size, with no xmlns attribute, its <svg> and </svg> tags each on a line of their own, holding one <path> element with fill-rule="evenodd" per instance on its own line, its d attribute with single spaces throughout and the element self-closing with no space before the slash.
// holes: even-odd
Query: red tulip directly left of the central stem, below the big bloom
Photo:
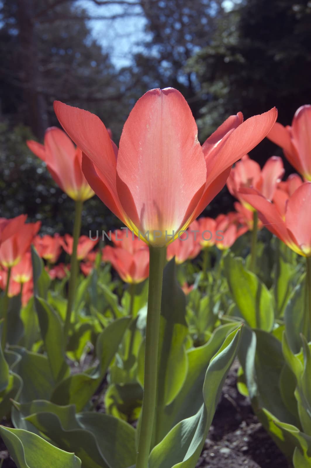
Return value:
<svg viewBox="0 0 311 468">
<path fill-rule="evenodd" d="M 141 283 L 149 275 L 149 251 L 146 247 L 130 253 L 120 247 L 107 245 L 102 259 L 110 262 L 125 283 Z"/>
</svg>

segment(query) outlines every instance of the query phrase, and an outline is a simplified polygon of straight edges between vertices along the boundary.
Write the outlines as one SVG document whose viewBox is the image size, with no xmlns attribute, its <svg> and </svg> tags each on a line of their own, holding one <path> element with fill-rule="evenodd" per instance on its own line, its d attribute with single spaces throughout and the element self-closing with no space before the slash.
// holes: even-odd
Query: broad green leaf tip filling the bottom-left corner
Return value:
<svg viewBox="0 0 311 468">
<path fill-rule="evenodd" d="M 24 431 L 0 427 L 0 434 L 18 468 L 79 468 L 81 461 L 46 440 Z"/>
</svg>

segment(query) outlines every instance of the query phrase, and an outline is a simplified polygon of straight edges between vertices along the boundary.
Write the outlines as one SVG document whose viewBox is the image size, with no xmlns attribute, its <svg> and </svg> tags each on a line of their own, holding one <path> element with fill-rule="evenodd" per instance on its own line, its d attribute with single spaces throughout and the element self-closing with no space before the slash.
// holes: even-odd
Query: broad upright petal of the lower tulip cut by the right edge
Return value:
<svg viewBox="0 0 311 468">
<path fill-rule="evenodd" d="M 311 182 L 306 182 L 289 198 L 286 226 L 305 255 L 311 256 Z"/>
</svg>

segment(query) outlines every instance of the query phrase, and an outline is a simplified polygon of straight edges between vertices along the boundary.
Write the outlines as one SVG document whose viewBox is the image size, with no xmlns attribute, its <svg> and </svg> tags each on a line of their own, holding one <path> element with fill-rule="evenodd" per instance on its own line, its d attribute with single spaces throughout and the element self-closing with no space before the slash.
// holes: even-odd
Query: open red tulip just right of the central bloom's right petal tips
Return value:
<svg viewBox="0 0 311 468">
<path fill-rule="evenodd" d="M 272 156 L 260 169 L 260 165 L 246 154 L 231 169 L 227 187 L 231 195 L 238 198 L 242 204 L 245 203 L 240 193 L 243 187 L 253 187 L 268 200 L 272 200 L 277 183 L 282 179 L 283 174 L 284 167 L 281 158 Z"/>
</svg>

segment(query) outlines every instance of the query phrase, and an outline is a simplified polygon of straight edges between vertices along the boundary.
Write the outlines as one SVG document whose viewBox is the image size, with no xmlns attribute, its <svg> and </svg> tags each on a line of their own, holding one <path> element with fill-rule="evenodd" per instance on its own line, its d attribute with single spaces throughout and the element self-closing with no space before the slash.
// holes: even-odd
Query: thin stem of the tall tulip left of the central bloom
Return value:
<svg viewBox="0 0 311 468">
<path fill-rule="evenodd" d="M 73 224 L 73 234 L 72 234 L 73 244 L 72 244 L 72 255 L 71 255 L 71 261 L 70 261 L 68 302 L 67 302 L 67 310 L 66 310 L 66 318 L 65 318 L 65 326 L 64 326 L 65 346 L 68 340 L 72 307 L 73 307 L 74 296 L 76 292 L 76 283 L 77 283 L 77 275 L 78 275 L 77 249 L 78 249 L 78 242 L 79 242 L 80 231 L 81 231 L 82 206 L 83 206 L 83 202 L 81 200 L 77 200 L 76 205 L 75 205 L 75 213 L 74 213 L 74 224 Z"/>
</svg>

